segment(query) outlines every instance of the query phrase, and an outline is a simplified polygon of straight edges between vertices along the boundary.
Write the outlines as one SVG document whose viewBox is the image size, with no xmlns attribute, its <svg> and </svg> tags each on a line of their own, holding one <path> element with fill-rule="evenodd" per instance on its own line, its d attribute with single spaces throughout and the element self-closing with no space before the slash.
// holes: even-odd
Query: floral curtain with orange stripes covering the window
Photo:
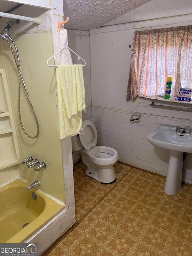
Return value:
<svg viewBox="0 0 192 256">
<path fill-rule="evenodd" d="M 192 88 L 192 26 L 136 31 L 127 100 L 163 97 L 167 77 L 173 77 L 171 95 Z"/>
</svg>

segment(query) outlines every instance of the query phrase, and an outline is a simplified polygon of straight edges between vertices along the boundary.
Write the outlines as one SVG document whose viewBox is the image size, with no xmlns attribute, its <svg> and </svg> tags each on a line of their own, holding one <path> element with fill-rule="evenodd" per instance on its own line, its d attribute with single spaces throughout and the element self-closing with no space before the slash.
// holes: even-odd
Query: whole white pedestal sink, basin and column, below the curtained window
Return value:
<svg viewBox="0 0 192 256">
<path fill-rule="evenodd" d="M 192 132 L 190 134 L 176 132 L 176 127 L 159 126 L 147 136 L 154 146 L 169 149 L 170 160 L 164 192 L 176 195 L 181 190 L 183 152 L 192 153 Z"/>
</svg>

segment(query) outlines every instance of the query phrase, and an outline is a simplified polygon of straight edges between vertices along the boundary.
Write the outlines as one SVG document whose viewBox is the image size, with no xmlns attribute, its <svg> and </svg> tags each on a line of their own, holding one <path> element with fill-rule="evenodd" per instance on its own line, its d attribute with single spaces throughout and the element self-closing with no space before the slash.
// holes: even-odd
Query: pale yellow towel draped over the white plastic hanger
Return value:
<svg viewBox="0 0 192 256">
<path fill-rule="evenodd" d="M 85 87 L 82 65 L 57 65 L 57 94 L 60 138 L 73 136 L 82 129 Z"/>
</svg>

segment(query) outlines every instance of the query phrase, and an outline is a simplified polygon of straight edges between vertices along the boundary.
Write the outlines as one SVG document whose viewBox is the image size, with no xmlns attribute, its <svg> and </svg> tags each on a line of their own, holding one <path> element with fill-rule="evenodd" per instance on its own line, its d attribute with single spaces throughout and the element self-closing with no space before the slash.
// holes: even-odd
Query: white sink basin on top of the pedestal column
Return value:
<svg viewBox="0 0 192 256">
<path fill-rule="evenodd" d="M 192 153 L 192 132 L 176 132 L 176 127 L 159 126 L 148 136 L 148 140 L 154 146 L 175 150 L 179 152 Z"/>
</svg>

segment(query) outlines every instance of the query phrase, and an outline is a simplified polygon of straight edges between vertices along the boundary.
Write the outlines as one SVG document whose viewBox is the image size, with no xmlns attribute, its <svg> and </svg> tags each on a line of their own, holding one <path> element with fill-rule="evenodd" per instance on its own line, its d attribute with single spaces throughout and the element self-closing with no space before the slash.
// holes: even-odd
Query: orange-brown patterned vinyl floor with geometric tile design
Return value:
<svg viewBox="0 0 192 256">
<path fill-rule="evenodd" d="M 107 191 L 89 177 L 84 186 L 81 167 L 74 171 L 79 224 L 49 255 L 192 255 L 192 186 L 169 196 L 164 177 L 116 163 L 119 178 Z"/>
</svg>

